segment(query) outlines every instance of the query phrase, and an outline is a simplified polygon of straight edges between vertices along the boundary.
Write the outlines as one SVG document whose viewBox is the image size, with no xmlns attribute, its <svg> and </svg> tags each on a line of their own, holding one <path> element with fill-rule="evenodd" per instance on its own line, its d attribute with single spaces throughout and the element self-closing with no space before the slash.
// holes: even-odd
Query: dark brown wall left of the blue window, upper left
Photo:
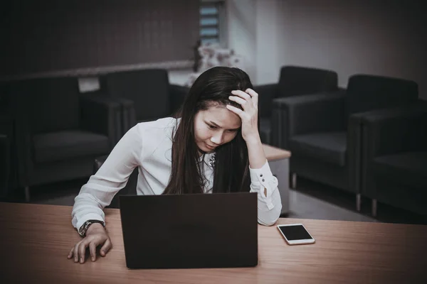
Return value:
<svg viewBox="0 0 427 284">
<path fill-rule="evenodd" d="M 191 66 L 199 0 L 60 2 L 4 2 L 0 80 Z"/>
</svg>

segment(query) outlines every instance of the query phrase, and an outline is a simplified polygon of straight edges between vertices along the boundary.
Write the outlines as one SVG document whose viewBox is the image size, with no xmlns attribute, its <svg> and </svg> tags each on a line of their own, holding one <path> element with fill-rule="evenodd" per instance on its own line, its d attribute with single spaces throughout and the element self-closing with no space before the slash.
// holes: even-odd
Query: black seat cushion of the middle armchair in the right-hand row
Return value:
<svg viewBox="0 0 427 284">
<path fill-rule="evenodd" d="M 344 167 L 347 152 L 347 132 L 325 132 L 297 135 L 290 138 L 290 151 L 295 155 L 323 160 Z"/>
</svg>

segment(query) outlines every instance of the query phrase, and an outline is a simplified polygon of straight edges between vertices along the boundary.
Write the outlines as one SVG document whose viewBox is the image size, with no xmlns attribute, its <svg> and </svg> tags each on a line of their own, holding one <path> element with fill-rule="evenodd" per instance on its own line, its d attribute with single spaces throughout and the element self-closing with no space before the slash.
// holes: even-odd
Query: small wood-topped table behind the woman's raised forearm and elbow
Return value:
<svg viewBox="0 0 427 284">
<path fill-rule="evenodd" d="M 278 189 L 282 200 L 282 214 L 289 212 L 289 158 L 290 151 L 263 144 L 265 157 L 270 170 L 278 178 Z"/>
</svg>

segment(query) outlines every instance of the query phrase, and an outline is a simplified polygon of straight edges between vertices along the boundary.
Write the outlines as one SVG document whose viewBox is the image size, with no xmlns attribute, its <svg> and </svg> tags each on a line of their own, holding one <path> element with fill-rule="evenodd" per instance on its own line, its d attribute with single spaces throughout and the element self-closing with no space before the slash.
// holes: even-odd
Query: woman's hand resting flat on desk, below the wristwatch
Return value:
<svg viewBox="0 0 427 284">
<path fill-rule="evenodd" d="M 89 247 L 90 257 L 92 261 L 96 260 L 96 248 L 101 246 L 100 255 L 105 256 L 108 251 L 112 248 L 112 243 L 110 236 L 108 236 L 107 231 L 101 224 L 92 224 L 86 231 L 86 236 L 84 239 L 79 241 L 73 249 L 68 253 L 68 259 L 74 257 L 74 262 L 84 263 L 85 262 L 85 253 L 86 249 Z"/>
</svg>

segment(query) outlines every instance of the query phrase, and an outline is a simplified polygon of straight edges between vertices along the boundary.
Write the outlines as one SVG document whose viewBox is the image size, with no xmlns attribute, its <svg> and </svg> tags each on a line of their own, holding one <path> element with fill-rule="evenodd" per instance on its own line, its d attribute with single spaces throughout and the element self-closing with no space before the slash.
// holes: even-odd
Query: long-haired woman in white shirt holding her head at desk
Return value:
<svg viewBox="0 0 427 284">
<path fill-rule="evenodd" d="M 258 94 L 238 68 L 202 73 L 177 118 L 137 124 L 75 197 L 73 226 L 83 239 L 68 258 L 85 262 L 112 247 L 102 209 L 138 167 L 138 195 L 258 192 L 258 223 L 274 224 L 282 204 L 258 133 Z"/>
</svg>

